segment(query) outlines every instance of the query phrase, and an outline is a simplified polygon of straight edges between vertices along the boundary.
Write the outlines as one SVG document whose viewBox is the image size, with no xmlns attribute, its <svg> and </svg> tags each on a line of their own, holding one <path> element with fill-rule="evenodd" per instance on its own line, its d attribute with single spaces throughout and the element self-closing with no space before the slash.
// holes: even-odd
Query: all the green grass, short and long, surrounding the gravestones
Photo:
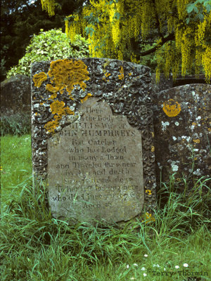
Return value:
<svg viewBox="0 0 211 281">
<path fill-rule="evenodd" d="M 34 194 L 30 136 L 4 136 L 1 148 L 0 280 L 210 280 L 206 178 L 184 192 L 177 175 L 161 183 L 155 221 L 68 226 L 51 217 L 45 190 Z"/>
</svg>

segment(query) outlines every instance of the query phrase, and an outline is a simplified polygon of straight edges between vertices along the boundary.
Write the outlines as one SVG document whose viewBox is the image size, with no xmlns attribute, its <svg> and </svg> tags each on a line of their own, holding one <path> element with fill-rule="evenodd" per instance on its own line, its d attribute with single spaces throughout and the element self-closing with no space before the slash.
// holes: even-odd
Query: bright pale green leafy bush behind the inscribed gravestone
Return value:
<svg viewBox="0 0 211 281">
<path fill-rule="evenodd" d="M 87 40 L 79 34 L 74 41 L 70 41 L 61 30 L 40 30 L 38 35 L 34 35 L 31 44 L 27 46 L 26 53 L 14 66 L 7 72 L 9 78 L 17 74 L 30 76 L 31 64 L 41 60 L 58 60 L 61 58 L 79 58 L 89 56 L 89 44 Z"/>
</svg>

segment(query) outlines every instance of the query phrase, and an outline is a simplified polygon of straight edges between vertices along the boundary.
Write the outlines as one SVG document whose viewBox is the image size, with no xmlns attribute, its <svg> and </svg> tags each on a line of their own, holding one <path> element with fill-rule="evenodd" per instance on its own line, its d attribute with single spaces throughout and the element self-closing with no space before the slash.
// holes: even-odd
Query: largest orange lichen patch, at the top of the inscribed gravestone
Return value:
<svg viewBox="0 0 211 281">
<path fill-rule="evenodd" d="M 63 89 L 66 89 L 70 94 L 73 86 L 77 84 L 84 91 L 87 87 L 84 81 L 89 80 L 87 65 L 82 60 L 65 59 L 52 61 L 48 74 L 53 84 L 55 84 L 55 87 L 51 86 L 51 91 L 55 89 L 55 91 L 60 91 L 60 93 L 63 93 Z"/>
</svg>

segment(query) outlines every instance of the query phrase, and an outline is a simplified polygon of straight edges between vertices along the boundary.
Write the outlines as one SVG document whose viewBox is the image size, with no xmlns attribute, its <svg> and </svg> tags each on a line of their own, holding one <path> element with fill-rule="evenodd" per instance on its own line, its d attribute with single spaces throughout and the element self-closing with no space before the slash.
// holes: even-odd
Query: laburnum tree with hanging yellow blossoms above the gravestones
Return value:
<svg viewBox="0 0 211 281">
<path fill-rule="evenodd" d="M 41 4 L 53 14 L 55 0 Z M 130 55 L 139 63 L 155 53 L 157 79 L 160 71 L 176 78 L 194 67 L 210 81 L 210 9 L 206 0 L 90 0 L 82 11 L 65 18 L 65 30 L 70 38 L 87 35 L 93 57 L 128 60 Z M 143 51 L 144 44 L 149 48 Z"/>
</svg>

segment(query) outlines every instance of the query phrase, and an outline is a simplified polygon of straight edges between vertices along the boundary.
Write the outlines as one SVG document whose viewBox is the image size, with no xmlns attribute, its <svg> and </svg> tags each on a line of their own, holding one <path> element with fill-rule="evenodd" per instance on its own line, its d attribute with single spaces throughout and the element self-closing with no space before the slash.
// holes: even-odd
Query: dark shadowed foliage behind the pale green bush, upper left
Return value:
<svg viewBox="0 0 211 281">
<path fill-rule="evenodd" d="M 60 28 L 64 25 L 64 17 L 82 6 L 84 0 L 59 0 L 55 6 L 56 15 L 49 17 L 42 11 L 40 0 L 1 0 L 1 81 L 6 72 L 18 64 L 25 55 L 25 48 L 30 44 L 32 34 Z M 63 28 L 64 31 L 64 28 Z M 6 48 L 4 48 L 6 46 Z"/>
</svg>

